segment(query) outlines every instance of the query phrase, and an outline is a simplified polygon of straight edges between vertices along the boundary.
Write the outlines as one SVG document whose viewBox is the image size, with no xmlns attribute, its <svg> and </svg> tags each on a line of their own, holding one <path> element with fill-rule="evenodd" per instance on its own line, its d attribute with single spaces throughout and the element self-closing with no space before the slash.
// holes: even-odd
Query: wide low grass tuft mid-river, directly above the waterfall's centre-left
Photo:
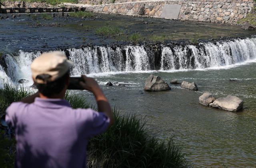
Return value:
<svg viewBox="0 0 256 168">
<path fill-rule="evenodd" d="M 104 36 L 114 36 L 121 35 L 124 31 L 116 26 L 109 26 L 108 23 L 106 26 L 99 27 L 95 30 L 96 35 L 104 35 Z"/>
</svg>

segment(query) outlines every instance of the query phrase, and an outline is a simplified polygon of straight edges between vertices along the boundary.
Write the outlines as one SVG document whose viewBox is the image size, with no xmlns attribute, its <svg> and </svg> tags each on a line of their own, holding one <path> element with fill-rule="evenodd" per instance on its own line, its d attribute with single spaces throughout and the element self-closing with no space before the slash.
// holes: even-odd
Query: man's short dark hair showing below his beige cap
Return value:
<svg viewBox="0 0 256 168">
<path fill-rule="evenodd" d="M 53 82 L 46 82 L 46 84 L 38 84 L 36 83 L 36 87 L 38 88 L 38 91 L 43 94 L 44 96 L 50 97 L 54 94 L 60 93 L 65 84 L 66 80 L 68 79 L 69 71 L 64 74 L 62 77 L 58 78 L 57 80 L 54 80 Z M 51 76 L 48 74 L 41 74 L 36 76 L 38 79 L 42 79 L 47 81 Z"/>
</svg>

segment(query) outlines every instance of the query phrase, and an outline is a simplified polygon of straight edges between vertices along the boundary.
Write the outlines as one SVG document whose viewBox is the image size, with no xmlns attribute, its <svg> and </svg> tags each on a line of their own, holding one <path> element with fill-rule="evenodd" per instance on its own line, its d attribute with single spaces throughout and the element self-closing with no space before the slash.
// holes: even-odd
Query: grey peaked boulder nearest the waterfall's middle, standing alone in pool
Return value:
<svg viewBox="0 0 256 168">
<path fill-rule="evenodd" d="M 144 90 L 147 91 L 162 91 L 162 90 L 170 90 L 170 86 L 167 82 L 161 79 L 160 76 L 150 75 L 146 79 Z"/>
</svg>

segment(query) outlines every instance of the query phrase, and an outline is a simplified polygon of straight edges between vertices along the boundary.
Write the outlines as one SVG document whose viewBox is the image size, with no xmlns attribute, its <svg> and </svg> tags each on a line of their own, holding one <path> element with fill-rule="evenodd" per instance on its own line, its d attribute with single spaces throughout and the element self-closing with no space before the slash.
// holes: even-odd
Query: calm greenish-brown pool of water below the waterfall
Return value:
<svg viewBox="0 0 256 168">
<path fill-rule="evenodd" d="M 147 120 L 148 129 L 161 139 L 174 136 L 183 147 L 186 158 L 195 167 L 254 167 L 256 165 L 256 63 L 228 69 L 111 74 L 95 76 L 110 103 L 123 113 L 136 113 Z M 170 85 L 172 90 L 144 92 L 144 81 L 149 74 L 196 82 L 199 91 Z M 236 81 L 229 81 L 237 78 Z M 106 82 L 129 83 L 131 86 L 104 86 Z M 200 105 L 204 92 L 219 98 L 233 94 L 244 100 L 244 109 L 229 112 Z M 88 100 L 88 92 L 80 92 Z"/>
</svg>

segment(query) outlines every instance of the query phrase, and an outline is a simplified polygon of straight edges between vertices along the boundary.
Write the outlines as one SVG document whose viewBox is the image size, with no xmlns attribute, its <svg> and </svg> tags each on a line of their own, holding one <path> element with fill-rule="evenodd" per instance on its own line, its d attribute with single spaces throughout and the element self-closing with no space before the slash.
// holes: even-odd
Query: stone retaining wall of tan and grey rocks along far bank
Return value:
<svg viewBox="0 0 256 168">
<path fill-rule="evenodd" d="M 253 0 L 152 0 L 89 6 L 86 11 L 166 18 L 162 16 L 166 4 L 181 5 L 178 17 L 171 19 L 233 25 L 254 6 Z"/>
</svg>

